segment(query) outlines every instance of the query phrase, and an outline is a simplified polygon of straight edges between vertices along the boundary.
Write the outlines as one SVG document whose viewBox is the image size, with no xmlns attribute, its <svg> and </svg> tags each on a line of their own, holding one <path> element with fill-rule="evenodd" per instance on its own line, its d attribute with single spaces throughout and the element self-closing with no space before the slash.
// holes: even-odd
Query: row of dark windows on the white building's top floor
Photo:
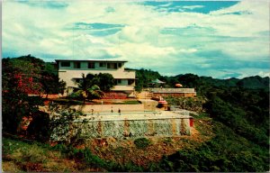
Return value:
<svg viewBox="0 0 270 173">
<path fill-rule="evenodd" d="M 74 67 L 73 68 L 81 68 L 81 62 L 74 62 Z M 94 67 L 95 63 L 94 62 L 88 62 L 88 68 L 95 68 Z M 121 68 L 122 64 L 121 63 L 106 63 L 106 62 L 100 62 L 99 67 L 100 68 L 110 68 L 110 69 L 117 69 Z M 70 62 L 61 62 L 61 67 L 70 67 Z"/>
</svg>

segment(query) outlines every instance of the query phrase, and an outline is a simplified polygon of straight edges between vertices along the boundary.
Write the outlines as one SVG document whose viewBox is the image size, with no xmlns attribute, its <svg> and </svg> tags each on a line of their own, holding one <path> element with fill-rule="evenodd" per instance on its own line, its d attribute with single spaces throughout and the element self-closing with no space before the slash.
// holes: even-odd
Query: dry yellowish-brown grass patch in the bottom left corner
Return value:
<svg viewBox="0 0 270 173">
<path fill-rule="evenodd" d="M 100 171 L 69 159 L 61 150 L 54 150 L 47 144 L 35 141 L 2 138 L 3 170 L 6 172 L 42 171 Z"/>
</svg>

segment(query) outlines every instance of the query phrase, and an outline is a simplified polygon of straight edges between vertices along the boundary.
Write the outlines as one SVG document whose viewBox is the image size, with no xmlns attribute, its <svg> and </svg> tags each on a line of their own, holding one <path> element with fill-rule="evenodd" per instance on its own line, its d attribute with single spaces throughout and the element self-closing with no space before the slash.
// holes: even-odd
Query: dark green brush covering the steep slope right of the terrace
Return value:
<svg viewBox="0 0 270 173">
<path fill-rule="evenodd" d="M 203 79 L 204 77 L 192 76 L 186 85 L 198 88 L 206 97 L 207 101 L 203 104 L 206 113 L 194 117 L 197 120 L 212 118 L 211 124 L 215 137 L 196 149 L 187 148 L 164 157 L 155 167 L 152 166 L 151 170 L 177 172 L 269 170 L 269 90 L 267 88 L 269 77 L 237 80 L 237 85 L 244 84 L 240 87 L 232 85 L 236 79 L 223 81 L 224 83 L 220 81 L 222 86 L 217 83 L 213 85 L 216 81 L 211 79 L 204 81 L 203 84 Z M 255 84 L 250 82 L 253 79 L 256 79 Z M 266 85 L 258 85 L 257 81 Z M 227 84 L 230 86 L 226 86 Z M 183 102 L 179 103 L 181 104 Z M 200 130 L 200 124 L 196 126 Z"/>
</svg>

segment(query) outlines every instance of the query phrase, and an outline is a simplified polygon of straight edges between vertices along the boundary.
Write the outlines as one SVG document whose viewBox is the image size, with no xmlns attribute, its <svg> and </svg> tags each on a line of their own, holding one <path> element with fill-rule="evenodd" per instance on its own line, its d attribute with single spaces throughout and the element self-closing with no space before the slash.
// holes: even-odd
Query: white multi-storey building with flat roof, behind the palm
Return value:
<svg viewBox="0 0 270 173">
<path fill-rule="evenodd" d="M 116 86 L 112 91 L 122 91 L 132 94 L 135 87 L 135 71 L 125 70 L 125 60 L 70 60 L 56 59 L 58 77 L 67 83 L 67 88 L 77 87 L 76 80 L 89 73 L 109 73 L 115 79 Z"/>
</svg>

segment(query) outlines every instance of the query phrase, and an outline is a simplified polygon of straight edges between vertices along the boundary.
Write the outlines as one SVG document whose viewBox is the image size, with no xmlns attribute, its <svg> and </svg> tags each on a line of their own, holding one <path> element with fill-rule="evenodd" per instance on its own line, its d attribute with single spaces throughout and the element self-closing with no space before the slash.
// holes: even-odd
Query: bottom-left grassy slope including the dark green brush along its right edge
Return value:
<svg viewBox="0 0 270 173">
<path fill-rule="evenodd" d="M 58 144 L 50 147 L 35 141 L 3 137 L 3 171 L 79 172 L 143 171 L 133 163 L 120 165 L 95 156 L 91 150 L 79 150 Z"/>
</svg>

